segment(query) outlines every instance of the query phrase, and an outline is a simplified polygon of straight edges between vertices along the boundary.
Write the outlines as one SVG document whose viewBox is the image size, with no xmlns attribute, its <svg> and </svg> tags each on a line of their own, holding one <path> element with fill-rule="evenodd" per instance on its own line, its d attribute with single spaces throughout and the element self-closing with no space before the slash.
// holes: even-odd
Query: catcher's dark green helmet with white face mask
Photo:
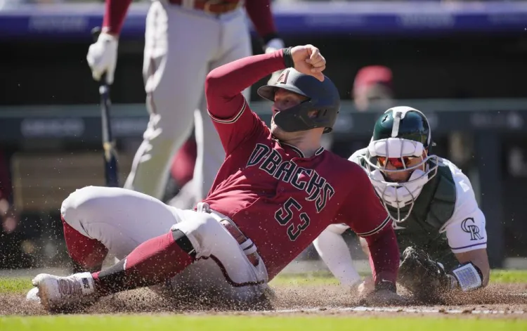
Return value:
<svg viewBox="0 0 527 331">
<path fill-rule="evenodd" d="M 375 122 L 361 163 L 396 222 L 408 219 L 423 186 L 437 174 L 438 157 L 430 154 L 432 145 L 427 117 L 415 108 L 390 108 Z M 415 158 L 419 162 L 410 161 Z M 388 163 L 397 167 L 387 169 Z M 386 176 L 401 171 L 411 171 L 408 181 L 396 183 Z"/>
</svg>

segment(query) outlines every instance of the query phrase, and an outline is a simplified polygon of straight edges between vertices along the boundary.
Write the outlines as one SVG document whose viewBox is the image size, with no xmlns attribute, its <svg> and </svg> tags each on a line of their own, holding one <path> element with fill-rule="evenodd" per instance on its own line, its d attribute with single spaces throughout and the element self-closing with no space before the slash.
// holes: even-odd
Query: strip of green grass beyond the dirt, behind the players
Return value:
<svg viewBox="0 0 527 331">
<path fill-rule="evenodd" d="M 363 274 L 365 276 L 366 274 Z M 527 283 L 527 271 L 493 270 L 490 272 L 491 283 Z M 271 286 L 301 285 L 339 285 L 339 281 L 328 272 L 282 274 L 271 282 Z M 1 293 L 22 293 L 32 287 L 31 278 L 0 278 Z"/>
</svg>

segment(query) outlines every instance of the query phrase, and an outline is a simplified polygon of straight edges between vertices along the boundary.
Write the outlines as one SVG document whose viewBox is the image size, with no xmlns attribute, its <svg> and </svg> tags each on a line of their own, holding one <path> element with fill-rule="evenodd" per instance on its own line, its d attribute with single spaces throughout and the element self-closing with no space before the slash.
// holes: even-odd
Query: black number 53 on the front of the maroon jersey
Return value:
<svg viewBox="0 0 527 331">
<path fill-rule="evenodd" d="M 287 235 L 291 241 L 297 240 L 300 233 L 309 226 L 309 216 L 301 212 L 302 206 L 289 197 L 285 204 L 275 212 L 275 220 L 281 226 L 287 226 Z"/>
</svg>

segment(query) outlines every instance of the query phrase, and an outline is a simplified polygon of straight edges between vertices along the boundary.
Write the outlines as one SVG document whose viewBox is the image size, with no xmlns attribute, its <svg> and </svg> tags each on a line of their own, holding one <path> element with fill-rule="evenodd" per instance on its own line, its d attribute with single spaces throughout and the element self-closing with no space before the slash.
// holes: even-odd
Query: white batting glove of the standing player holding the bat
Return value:
<svg viewBox="0 0 527 331">
<path fill-rule="evenodd" d="M 93 79 L 100 80 L 106 72 L 106 82 L 112 84 L 115 65 L 117 65 L 117 37 L 101 33 L 97 41 L 88 48 L 86 60 Z"/>
</svg>

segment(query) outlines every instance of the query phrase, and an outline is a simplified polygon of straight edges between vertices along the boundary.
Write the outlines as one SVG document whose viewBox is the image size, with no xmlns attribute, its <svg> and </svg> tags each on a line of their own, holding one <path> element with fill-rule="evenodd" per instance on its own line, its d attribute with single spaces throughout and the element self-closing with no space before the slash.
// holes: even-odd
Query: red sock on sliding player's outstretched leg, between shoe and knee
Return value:
<svg viewBox="0 0 527 331">
<path fill-rule="evenodd" d="M 174 234 L 170 231 L 147 240 L 122 261 L 93 273 L 98 294 L 108 295 L 163 283 L 190 266 L 195 261 L 194 256 L 188 253 L 192 251 L 190 242 L 184 235 L 175 240 Z"/>
</svg>

